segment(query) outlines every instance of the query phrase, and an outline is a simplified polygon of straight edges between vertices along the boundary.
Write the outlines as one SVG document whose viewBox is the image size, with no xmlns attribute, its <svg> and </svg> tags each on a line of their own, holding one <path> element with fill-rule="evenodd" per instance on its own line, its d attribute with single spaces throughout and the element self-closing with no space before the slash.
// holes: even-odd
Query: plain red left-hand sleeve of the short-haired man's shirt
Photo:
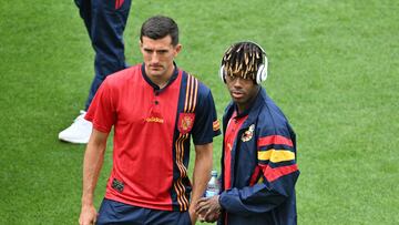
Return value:
<svg viewBox="0 0 399 225">
<path fill-rule="evenodd" d="M 114 96 L 110 80 L 105 79 L 96 91 L 91 102 L 85 120 L 93 123 L 93 127 L 104 133 L 109 133 L 115 122 Z"/>
</svg>

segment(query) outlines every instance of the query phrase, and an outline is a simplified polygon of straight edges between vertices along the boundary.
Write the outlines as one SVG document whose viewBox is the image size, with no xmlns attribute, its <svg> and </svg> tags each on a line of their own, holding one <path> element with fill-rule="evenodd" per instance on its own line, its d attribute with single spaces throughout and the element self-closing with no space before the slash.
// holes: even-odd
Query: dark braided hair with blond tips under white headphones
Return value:
<svg viewBox="0 0 399 225">
<path fill-rule="evenodd" d="M 256 74 L 263 64 L 265 52 L 254 42 L 238 42 L 231 45 L 222 59 L 222 71 L 225 75 L 236 75 L 252 79 L 256 82 Z"/>
</svg>

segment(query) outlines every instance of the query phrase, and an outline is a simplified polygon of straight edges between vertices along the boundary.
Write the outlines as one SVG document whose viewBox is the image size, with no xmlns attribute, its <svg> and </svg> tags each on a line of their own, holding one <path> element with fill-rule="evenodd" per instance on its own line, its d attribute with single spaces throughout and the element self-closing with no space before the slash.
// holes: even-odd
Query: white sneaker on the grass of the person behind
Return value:
<svg viewBox="0 0 399 225">
<path fill-rule="evenodd" d="M 84 120 L 85 111 L 81 110 L 80 115 L 72 125 L 59 133 L 59 140 L 74 144 L 88 144 L 93 124 Z"/>
</svg>

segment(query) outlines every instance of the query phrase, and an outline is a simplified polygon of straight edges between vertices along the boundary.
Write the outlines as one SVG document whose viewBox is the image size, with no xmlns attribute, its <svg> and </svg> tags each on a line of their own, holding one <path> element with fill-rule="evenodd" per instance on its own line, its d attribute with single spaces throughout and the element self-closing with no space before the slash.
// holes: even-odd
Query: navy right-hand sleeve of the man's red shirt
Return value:
<svg viewBox="0 0 399 225">
<path fill-rule="evenodd" d="M 221 134 L 221 125 L 217 120 L 211 90 L 202 86 L 198 92 L 198 105 L 196 108 L 195 122 L 192 132 L 195 145 L 212 143 L 213 137 Z"/>
</svg>

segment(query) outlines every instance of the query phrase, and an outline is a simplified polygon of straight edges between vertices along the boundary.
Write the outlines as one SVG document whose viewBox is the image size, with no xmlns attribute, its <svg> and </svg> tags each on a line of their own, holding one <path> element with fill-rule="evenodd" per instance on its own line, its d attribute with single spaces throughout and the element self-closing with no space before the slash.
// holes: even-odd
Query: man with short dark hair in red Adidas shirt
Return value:
<svg viewBox="0 0 399 225">
<path fill-rule="evenodd" d="M 85 119 L 93 123 L 83 165 L 80 224 L 192 224 L 219 134 L 211 90 L 177 68 L 177 24 L 153 17 L 141 29 L 144 63 L 105 79 Z M 96 215 L 93 193 L 114 127 L 113 167 Z M 195 145 L 193 183 L 187 176 Z"/>
</svg>

